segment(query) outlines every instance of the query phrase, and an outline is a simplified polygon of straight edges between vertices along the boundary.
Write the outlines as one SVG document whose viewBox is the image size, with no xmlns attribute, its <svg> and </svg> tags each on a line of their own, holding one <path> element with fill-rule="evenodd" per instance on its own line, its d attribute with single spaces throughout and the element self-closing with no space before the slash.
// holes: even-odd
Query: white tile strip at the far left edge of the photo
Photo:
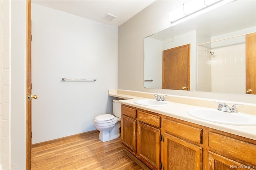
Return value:
<svg viewBox="0 0 256 170">
<path fill-rule="evenodd" d="M 10 169 L 10 2 L 0 1 L 0 168 Z"/>
</svg>

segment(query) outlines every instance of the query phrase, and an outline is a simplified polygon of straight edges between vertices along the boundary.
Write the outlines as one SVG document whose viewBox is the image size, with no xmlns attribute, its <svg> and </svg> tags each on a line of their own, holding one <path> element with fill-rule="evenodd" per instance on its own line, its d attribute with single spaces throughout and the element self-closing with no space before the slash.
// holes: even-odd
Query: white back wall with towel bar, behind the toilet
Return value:
<svg viewBox="0 0 256 170">
<path fill-rule="evenodd" d="M 112 113 L 117 34 L 114 26 L 32 4 L 32 144 L 94 130 L 94 117 Z"/>
</svg>

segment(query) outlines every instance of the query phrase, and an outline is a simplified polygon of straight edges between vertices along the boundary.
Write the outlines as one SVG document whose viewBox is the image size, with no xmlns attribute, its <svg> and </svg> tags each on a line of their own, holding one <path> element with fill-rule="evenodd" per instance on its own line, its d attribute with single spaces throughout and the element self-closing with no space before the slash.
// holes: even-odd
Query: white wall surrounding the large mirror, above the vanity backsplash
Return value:
<svg viewBox="0 0 256 170">
<path fill-rule="evenodd" d="M 155 1 L 118 27 L 118 89 L 255 103 L 255 95 L 144 89 L 143 40 L 155 32 L 170 27 L 169 12 L 182 3 L 182 0 Z"/>
</svg>

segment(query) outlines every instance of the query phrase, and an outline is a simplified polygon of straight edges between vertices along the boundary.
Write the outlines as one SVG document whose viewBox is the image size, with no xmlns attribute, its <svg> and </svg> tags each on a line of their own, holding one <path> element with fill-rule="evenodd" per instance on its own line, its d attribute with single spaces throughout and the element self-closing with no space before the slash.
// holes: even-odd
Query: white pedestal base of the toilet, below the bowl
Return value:
<svg viewBox="0 0 256 170">
<path fill-rule="evenodd" d="M 116 123 L 116 125 L 109 131 L 100 131 L 99 139 L 102 142 L 107 142 L 110 140 L 114 140 L 116 138 L 119 138 L 120 136 L 120 121 Z"/>
</svg>

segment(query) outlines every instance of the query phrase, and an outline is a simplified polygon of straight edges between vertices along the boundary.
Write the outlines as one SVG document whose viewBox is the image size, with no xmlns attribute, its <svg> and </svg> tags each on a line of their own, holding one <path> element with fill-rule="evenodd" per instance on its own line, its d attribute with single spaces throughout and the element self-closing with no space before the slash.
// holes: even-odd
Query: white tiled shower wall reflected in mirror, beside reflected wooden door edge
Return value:
<svg viewBox="0 0 256 170">
<path fill-rule="evenodd" d="M 245 43 L 212 51 L 212 92 L 245 93 Z"/>
</svg>

